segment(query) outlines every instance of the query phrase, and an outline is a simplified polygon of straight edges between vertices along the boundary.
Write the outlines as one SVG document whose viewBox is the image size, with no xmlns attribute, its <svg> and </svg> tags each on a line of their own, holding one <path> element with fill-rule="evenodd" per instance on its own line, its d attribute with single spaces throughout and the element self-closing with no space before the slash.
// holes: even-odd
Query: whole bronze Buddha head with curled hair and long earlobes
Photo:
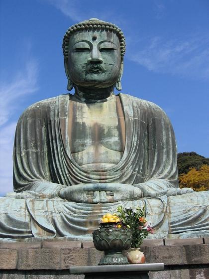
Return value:
<svg viewBox="0 0 209 279">
<path fill-rule="evenodd" d="M 91 18 L 71 26 L 63 39 L 68 90 L 82 88 L 121 90 L 125 39 L 112 23 Z"/>
</svg>

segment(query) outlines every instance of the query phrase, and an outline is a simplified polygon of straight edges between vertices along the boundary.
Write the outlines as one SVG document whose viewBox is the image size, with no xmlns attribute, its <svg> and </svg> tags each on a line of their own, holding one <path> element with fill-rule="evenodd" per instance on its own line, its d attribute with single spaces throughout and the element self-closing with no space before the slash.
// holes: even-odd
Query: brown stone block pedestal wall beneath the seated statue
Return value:
<svg viewBox="0 0 209 279">
<path fill-rule="evenodd" d="M 72 266 L 97 266 L 103 252 L 93 242 L 31 239 L 31 243 L 0 243 L 0 279 L 84 279 L 70 275 Z M 164 263 L 150 279 L 208 279 L 209 239 L 144 240 L 146 263 Z"/>
</svg>

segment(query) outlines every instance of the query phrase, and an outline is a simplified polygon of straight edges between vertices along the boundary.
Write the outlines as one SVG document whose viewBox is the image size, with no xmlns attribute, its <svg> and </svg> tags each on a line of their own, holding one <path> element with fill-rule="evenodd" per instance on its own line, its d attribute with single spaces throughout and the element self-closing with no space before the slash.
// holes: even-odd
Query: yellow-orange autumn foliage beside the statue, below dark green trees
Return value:
<svg viewBox="0 0 209 279">
<path fill-rule="evenodd" d="M 202 165 L 199 170 L 197 170 L 195 167 L 192 167 L 187 174 L 181 174 L 179 176 L 179 187 L 188 187 L 195 191 L 208 191 L 209 165 Z"/>
</svg>

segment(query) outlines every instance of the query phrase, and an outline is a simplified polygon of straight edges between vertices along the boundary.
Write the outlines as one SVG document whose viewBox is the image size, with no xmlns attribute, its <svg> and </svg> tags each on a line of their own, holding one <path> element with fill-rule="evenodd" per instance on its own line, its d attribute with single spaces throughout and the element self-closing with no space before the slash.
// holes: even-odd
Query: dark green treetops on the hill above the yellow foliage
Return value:
<svg viewBox="0 0 209 279">
<path fill-rule="evenodd" d="M 199 170 L 203 164 L 209 165 L 209 158 L 201 156 L 196 152 L 178 153 L 177 167 L 179 175 L 183 173 L 187 174 L 192 167 L 195 167 L 197 170 Z"/>
</svg>

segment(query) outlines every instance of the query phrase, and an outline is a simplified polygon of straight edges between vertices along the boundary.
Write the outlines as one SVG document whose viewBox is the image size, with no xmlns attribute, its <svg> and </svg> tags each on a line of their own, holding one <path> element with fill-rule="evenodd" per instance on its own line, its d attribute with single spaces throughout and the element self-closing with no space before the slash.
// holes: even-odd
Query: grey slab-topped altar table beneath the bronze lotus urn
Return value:
<svg viewBox="0 0 209 279">
<path fill-rule="evenodd" d="M 162 271 L 164 264 L 70 267 L 70 274 L 84 274 L 85 279 L 149 279 L 150 271 Z"/>
</svg>

